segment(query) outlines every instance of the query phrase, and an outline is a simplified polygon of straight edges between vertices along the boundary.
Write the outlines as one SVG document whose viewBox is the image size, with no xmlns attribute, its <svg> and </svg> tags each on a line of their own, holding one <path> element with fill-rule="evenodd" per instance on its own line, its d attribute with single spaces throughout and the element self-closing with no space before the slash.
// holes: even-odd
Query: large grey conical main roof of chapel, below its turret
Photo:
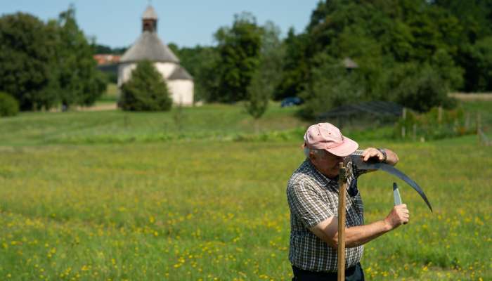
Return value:
<svg viewBox="0 0 492 281">
<path fill-rule="evenodd" d="M 162 63 L 179 63 L 179 59 L 171 49 L 157 37 L 155 32 L 143 32 L 135 44 L 122 56 L 120 63 L 133 63 L 140 60 L 151 60 Z"/>
</svg>

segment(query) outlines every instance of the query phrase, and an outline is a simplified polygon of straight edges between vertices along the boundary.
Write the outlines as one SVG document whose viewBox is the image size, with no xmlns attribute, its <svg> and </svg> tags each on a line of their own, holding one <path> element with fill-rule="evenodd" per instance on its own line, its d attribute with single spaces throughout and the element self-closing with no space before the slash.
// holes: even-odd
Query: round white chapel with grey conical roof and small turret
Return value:
<svg viewBox="0 0 492 281">
<path fill-rule="evenodd" d="M 122 56 L 118 65 L 118 86 L 128 81 L 141 60 L 154 63 L 175 104 L 193 105 L 193 77 L 179 64 L 179 58 L 157 36 L 157 13 L 148 6 L 142 16 L 142 34 Z"/>
</svg>

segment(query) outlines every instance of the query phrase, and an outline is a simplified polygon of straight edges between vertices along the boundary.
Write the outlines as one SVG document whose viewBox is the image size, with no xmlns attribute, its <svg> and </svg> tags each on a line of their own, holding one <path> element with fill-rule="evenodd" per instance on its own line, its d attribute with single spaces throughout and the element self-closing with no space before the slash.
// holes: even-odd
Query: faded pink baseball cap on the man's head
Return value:
<svg viewBox="0 0 492 281">
<path fill-rule="evenodd" d="M 319 123 L 309 126 L 304 134 L 304 147 L 322 149 L 337 156 L 348 156 L 358 148 L 358 143 L 352 141 L 330 123 Z"/>
</svg>

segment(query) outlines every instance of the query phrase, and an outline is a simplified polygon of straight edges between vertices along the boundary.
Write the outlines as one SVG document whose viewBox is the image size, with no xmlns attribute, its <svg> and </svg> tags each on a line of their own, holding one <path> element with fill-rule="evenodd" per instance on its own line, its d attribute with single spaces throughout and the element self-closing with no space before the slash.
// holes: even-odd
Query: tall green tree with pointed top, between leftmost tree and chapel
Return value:
<svg viewBox="0 0 492 281">
<path fill-rule="evenodd" d="M 75 8 L 70 6 L 58 18 L 57 72 L 60 101 L 70 105 L 91 105 L 106 88 L 104 74 L 96 69 L 93 46 L 79 30 Z"/>
</svg>

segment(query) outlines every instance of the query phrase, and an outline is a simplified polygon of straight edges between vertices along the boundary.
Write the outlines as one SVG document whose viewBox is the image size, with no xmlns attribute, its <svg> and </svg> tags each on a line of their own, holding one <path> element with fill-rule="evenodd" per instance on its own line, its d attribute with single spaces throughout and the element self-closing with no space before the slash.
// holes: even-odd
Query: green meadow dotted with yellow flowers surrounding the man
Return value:
<svg viewBox="0 0 492 281">
<path fill-rule="evenodd" d="M 0 280 L 290 280 L 285 187 L 307 124 L 274 104 L 258 125 L 227 105 L 0 119 Z M 366 279 L 492 280 L 492 147 L 351 136 L 396 151 L 434 207 L 396 181 L 410 223 L 366 244 Z M 359 179 L 366 222 L 393 181 Z"/>
</svg>

